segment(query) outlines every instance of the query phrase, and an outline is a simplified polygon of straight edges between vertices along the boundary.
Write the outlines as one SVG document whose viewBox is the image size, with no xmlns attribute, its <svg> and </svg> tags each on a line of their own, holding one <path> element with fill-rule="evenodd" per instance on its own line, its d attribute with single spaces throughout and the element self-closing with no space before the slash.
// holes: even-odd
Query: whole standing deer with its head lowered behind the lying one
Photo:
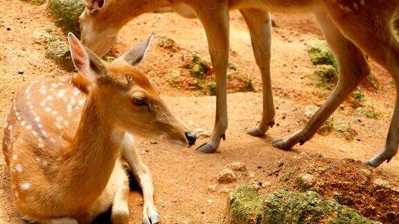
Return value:
<svg viewBox="0 0 399 224">
<path fill-rule="evenodd" d="M 304 129 L 274 147 L 291 149 L 304 144 L 348 95 L 370 73 L 366 55 L 389 71 L 396 84 L 396 106 L 382 152 L 367 161 L 378 167 L 389 162 L 399 142 L 399 42 L 391 22 L 398 10 L 397 0 L 87 0 L 80 16 L 82 41 L 99 55 L 116 41 L 118 30 L 128 21 L 157 8 L 171 7 L 184 17 L 198 17 L 206 30 L 209 53 L 217 85 L 216 120 L 211 140 L 197 151 L 213 153 L 227 129 L 227 64 L 229 57 L 229 10 L 238 9 L 251 34 L 256 63 L 263 83 L 263 115 L 251 136 L 263 136 L 274 125 L 274 105 L 270 80 L 271 20 L 268 11 L 312 12 L 339 64 L 339 82 Z M 106 41 L 98 41 L 106 40 Z"/>
</svg>

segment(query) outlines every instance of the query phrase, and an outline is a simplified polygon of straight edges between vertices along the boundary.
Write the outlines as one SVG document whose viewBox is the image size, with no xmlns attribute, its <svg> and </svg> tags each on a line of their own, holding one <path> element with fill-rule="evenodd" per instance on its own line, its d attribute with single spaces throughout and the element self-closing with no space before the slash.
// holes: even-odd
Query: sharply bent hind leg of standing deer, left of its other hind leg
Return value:
<svg viewBox="0 0 399 224">
<path fill-rule="evenodd" d="M 304 144 L 310 140 L 335 109 L 370 73 L 369 65 L 362 51 L 342 35 L 342 32 L 328 17 L 327 12 L 316 12 L 315 15 L 339 64 L 338 84 L 305 128 L 294 133 L 290 138 L 274 142 L 274 147 L 278 149 L 291 149 L 297 143 Z"/>
</svg>

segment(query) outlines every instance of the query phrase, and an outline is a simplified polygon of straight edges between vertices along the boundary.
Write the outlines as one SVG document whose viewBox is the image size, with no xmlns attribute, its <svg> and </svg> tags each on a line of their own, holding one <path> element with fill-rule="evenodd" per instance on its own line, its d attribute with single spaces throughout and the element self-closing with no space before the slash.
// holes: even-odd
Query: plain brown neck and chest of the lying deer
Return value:
<svg viewBox="0 0 399 224">
<path fill-rule="evenodd" d="M 76 204 L 96 200 L 105 189 L 118 158 L 123 133 L 109 125 L 90 94 L 76 137 L 60 156 L 58 184 L 64 200 Z M 82 200 L 82 201 L 77 201 Z"/>
</svg>

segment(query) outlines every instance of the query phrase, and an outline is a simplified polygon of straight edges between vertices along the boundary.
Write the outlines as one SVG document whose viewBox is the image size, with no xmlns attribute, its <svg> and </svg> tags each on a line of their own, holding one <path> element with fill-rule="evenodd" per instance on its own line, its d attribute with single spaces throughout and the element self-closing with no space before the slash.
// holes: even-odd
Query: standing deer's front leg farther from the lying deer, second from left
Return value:
<svg viewBox="0 0 399 224">
<path fill-rule="evenodd" d="M 270 13 L 263 10 L 240 10 L 251 33 L 252 48 L 256 64 L 262 75 L 263 113 L 258 127 L 251 129 L 251 136 L 264 136 L 269 127 L 274 125 L 274 104 L 272 80 L 270 79 L 270 57 L 272 46 L 272 20 Z"/>
</svg>

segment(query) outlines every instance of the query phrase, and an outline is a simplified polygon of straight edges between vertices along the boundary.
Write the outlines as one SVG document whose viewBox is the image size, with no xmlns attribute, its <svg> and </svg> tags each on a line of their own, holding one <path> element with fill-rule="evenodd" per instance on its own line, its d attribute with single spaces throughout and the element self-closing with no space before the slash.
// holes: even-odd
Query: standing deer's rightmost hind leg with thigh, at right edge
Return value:
<svg viewBox="0 0 399 224">
<path fill-rule="evenodd" d="M 342 20 L 344 12 L 329 11 L 342 32 L 360 46 L 367 55 L 384 66 L 391 73 L 396 85 L 396 104 L 384 149 L 366 162 L 372 167 L 378 167 L 384 161 L 389 162 L 398 153 L 399 145 L 399 41 L 391 24 L 399 3 L 398 1 L 384 2 L 383 6 L 373 6 L 373 8 L 367 7 L 368 3 L 365 3 L 360 11 L 347 13 L 348 19 L 345 21 Z M 347 22 L 349 19 L 359 22 Z"/>
</svg>

